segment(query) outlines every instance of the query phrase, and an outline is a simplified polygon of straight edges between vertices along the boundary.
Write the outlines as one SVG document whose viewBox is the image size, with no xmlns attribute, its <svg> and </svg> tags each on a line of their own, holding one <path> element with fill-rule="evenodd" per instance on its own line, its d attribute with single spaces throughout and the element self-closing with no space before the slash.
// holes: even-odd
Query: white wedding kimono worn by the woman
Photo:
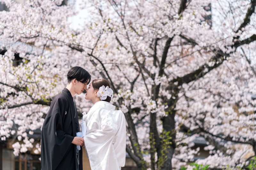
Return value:
<svg viewBox="0 0 256 170">
<path fill-rule="evenodd" d="M 84 144 L 92 170 L 120 170 L 125 164 L 124 113 L 106 101 L 96 102 L 84 116 Z"/>
</svg>

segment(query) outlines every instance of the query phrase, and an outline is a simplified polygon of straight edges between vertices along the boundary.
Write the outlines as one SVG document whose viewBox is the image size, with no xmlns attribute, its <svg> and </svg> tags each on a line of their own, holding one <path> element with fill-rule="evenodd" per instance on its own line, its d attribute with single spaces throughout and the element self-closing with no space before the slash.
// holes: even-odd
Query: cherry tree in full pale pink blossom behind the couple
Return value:
<svg viewBox="0 0 256 170">
<path fill-rule="evenodd" d="M 210 156 L 196 162 L 211 168 L 245 167 L 255 154 L 255 0 L 85 0 L 76 30 L 60 0 L 0 2 L 0 136 L 23 140 L 15 154 L 33 147 L 76 65 L 110 82 L 139 169 L 186 166 L 198 136 Z M 92 106 L 84 96 L 80 116 Z"/>
</svg>

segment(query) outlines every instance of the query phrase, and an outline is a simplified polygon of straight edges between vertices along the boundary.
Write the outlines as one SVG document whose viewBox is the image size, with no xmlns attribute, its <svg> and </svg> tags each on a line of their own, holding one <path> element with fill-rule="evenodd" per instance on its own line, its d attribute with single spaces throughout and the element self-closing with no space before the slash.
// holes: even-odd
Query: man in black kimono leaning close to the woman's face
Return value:
<svg viewBox="0 0 256 170">
<path fill-rule="evenodd" d="M 76 145 L 84 145 L 84 139 L 76 137 L 80 129 L 74 95 L 87 89 L 91 75 L 76 66 L 67 78 L 67 87 L 53 98 L 42 127 L 42 170 L 83 169 L 82 149 L 78 151 Z"/>
</svg>

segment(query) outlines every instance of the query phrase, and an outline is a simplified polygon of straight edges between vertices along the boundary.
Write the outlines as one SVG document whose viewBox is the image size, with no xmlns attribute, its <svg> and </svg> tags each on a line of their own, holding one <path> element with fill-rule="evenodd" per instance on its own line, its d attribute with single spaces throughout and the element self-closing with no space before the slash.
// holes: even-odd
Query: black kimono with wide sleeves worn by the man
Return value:
<svg viewBox="0 0 256 170">
<path fill-rule="evenodd" d="M 76 145 L 72 144 L 79 132 L 77 110 L 67 88 L 56 95 L 42 127 L 42 170 L 76 170 Z M 79 170 L 83 169 L 82 148 L 79 151 Z"/>
</svg>

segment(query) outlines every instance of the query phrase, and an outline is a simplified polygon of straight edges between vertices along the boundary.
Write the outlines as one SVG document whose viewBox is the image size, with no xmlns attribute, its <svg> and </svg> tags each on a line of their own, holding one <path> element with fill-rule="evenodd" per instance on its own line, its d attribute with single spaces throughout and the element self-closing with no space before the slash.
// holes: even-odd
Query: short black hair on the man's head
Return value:
<svg viewBox="0 0 256 170">
<path fill-rule="evenodd" d="M 86 83 L 89 80 L 87 83 L 88 85 L 91 81 L 92 76 L 82 67 L 75 66 L 68 70 L 67 78 L 68 84 L 76 78 L 76 80 L 80 81 L 81 83 Z"/>
</svg>

